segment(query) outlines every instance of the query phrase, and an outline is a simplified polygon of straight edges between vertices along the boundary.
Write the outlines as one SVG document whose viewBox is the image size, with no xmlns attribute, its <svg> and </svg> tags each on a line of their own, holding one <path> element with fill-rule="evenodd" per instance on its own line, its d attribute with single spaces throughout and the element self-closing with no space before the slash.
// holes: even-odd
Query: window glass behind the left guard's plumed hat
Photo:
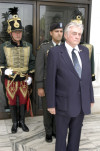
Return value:
<svg viewBox="0 0 100 151">
<path fill-rule="evenodd" d="M 7 20 L 12 18 L 8 13 L 9 8 L 18 7 L 18 16 L 21 18 L 23 26 L 23 39 L 33 43 L 33 7 L 26 4 L 0 4 L 0 44 L 9 40 L 10 36 L 7 33 Z"/>
</svg>

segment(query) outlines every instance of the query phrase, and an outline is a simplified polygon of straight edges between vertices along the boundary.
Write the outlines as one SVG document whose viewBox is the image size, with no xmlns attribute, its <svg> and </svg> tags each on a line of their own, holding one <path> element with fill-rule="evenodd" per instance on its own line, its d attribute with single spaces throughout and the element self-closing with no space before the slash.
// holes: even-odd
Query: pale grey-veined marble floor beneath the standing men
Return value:
<svg viewBox="0 0 100 151">
<path fill-rule="evenodd" d="M 30 131 L 11 133 L 11 119 L 0 120 L 0 151 L 54 151 L 55 139 L 45 142 L 43 117 L 27 117 Z M 100 114 L 85 116 L 80 151 L 100 151 Z"/>
</svg>

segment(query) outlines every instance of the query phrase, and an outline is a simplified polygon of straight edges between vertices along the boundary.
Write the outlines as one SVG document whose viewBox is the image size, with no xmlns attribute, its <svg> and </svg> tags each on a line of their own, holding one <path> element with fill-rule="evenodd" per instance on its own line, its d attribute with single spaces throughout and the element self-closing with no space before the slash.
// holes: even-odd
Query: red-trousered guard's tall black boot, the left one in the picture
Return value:
<svg viewBox="0 0 100 151">
<path fill-rule="evenodd" d="M 17 106 L 16 105 L 11 105 L 10 106 L 10 111 L 11 111 L 11 117 L 12 117 L 12 128 L 11 132 L 12 133 L 17 133 L 17 128 L 18 128 L 18 121 L 17 121 Z"/>
</svg>

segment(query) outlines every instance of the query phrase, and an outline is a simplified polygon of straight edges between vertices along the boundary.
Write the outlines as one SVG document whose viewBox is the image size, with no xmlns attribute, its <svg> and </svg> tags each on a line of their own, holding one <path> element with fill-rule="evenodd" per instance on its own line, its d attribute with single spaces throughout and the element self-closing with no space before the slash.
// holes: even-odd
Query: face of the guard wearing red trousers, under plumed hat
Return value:
<svg viewBox="0 0 100 151">
<path fill-rule="evenodd" d="M 10 33 L 12 39 L 16 42 L 19 42 L 22 39 L 22 31 L 13 31 Z"/>
</svg>

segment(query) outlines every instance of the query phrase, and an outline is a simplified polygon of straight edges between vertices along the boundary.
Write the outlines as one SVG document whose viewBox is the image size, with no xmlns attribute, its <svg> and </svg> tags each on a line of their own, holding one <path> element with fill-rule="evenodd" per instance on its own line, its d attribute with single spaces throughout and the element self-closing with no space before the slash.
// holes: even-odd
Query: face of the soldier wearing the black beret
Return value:
<svg viewBox="0 0 100 151">
<path fill-rule="evenodd" d="M 63 36 L 63 29 L 62 28 L 54 29 L 53 31 L 50 31 L 50 35 L 55 43 L 59 43 Z"/>
</svg>

